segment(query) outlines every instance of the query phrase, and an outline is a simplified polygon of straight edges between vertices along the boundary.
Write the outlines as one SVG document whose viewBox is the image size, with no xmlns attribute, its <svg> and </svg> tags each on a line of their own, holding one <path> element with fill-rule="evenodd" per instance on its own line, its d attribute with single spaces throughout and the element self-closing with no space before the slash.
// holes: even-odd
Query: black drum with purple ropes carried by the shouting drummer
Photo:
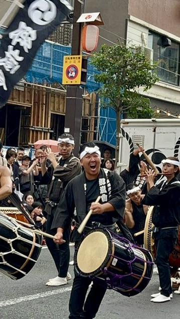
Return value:
<svg viewBox="0 0 180 319">
<path fill-rule="evenodd" d="M 151 254 L 107 228 L 89 231 L 75 250 L 75 268 L 81 276 L 126 296 L 141 292 L 148 284 Z"/>
</svg>

